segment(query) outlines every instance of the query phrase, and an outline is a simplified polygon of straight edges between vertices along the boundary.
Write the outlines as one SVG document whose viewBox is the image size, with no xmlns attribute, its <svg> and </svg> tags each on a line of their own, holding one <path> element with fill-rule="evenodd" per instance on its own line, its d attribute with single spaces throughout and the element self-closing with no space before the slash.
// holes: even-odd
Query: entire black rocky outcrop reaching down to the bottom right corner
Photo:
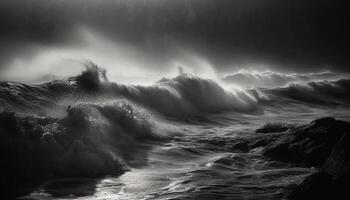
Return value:
<svg viewBox="0 0 350 200">
<path fill-rule="evenodd" d="M 263 154 L 303 167 L 317 167 L 289 199 L 348 199 L 350 185 L 350 123 L 321 118 L 287 132 L 268 144 Z"/>
</svg>

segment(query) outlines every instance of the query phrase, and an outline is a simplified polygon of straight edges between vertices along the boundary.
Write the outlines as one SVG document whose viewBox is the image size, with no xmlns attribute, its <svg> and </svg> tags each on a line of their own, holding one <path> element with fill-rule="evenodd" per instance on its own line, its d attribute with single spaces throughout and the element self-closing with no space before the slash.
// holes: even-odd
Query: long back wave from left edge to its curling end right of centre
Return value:
<svg viewBox="0 0 350 200">
<path fill-rule="evenodd" d="M 0 106 L 13 110 L 40 110 L 58 106 L 61 100 L 121 98 L 170 117 L 222 111 L 255 112 L 257 101 L 245 91 L 228 91 L 213 80 L 181 73 L 152 86 L 108 82 L 105 71 L 92 64 L 68 81 L 41 85 L 4 82 Z M 101 81 L 101 76 L 104 81 Z"/>
</svg>

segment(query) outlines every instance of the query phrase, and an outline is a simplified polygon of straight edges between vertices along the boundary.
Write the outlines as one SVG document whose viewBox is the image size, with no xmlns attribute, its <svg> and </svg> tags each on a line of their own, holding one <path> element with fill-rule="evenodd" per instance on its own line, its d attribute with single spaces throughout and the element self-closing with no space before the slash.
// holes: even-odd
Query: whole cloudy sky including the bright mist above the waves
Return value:
<svg viewBox="0 0 350 200">
<path fill-rule="evenodd" d="M 350 71 L 344 2 L 0 0 L 0 70 L 57 75 L 86 59 L 116 76 Z"/>
</svg>

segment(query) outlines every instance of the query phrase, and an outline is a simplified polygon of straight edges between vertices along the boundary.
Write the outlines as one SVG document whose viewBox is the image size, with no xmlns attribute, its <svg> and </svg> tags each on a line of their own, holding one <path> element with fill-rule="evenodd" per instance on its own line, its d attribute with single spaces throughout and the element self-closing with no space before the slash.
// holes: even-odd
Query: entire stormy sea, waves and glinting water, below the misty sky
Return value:
<svg viewBox="0 0 350 200">
<path fill-rule="evenodd" d="M 8 167 L 43 177 L 20 199 L 285 199 L 315 169 L 264 157 L 252 144 L 284 133 L 255 130 L 350 118 L 346 78 L 231 90 L 187 74 L 153 86 L 81 76 L 0 85 L 20 133 L 1 138 Z"/>
</svg>

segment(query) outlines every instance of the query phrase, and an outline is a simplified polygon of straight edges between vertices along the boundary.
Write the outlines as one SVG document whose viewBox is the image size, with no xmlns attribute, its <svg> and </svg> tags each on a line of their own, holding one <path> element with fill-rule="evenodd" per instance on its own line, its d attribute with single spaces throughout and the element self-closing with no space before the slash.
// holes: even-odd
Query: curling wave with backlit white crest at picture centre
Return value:
<svg viewBox="0 0 350 200">
<path fill-rule="evenodd" d="M 244 91 L 227 91 L 215 81 L 188 74 L 166 79 L 153 86 L 114 84 L 113 92 L 167 116 L 257 110 L 256 100 Z"/>
</svg>

